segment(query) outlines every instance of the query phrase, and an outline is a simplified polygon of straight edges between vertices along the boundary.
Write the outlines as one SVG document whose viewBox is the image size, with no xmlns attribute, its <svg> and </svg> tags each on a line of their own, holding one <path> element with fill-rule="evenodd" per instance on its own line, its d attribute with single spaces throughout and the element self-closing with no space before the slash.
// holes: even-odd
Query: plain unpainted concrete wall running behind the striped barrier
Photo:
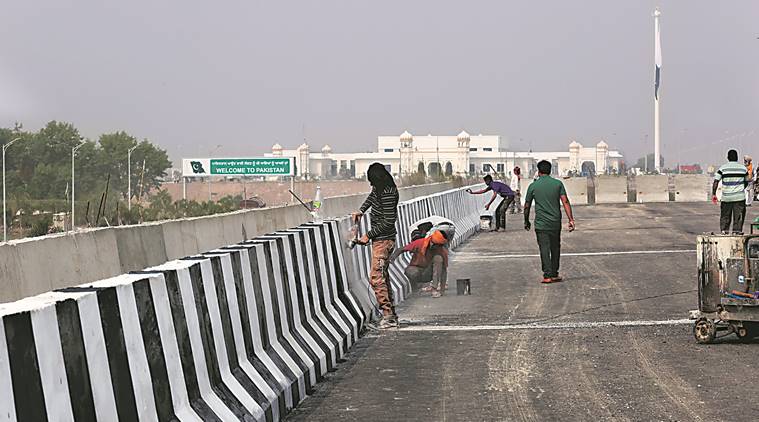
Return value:
<svg viewBox="0 0 759 422">
<path fill-rule="evenodd" d="M 401 200 L 448 190 L 451 183 L 400 189 Z M 324 216 L 357 210 L 366 194 L 326 198 Z M 135 226 L 87 229 L 0 245 L 0 303 L 159 265 L 311 220 L 300 205 Z"/>
</svg>

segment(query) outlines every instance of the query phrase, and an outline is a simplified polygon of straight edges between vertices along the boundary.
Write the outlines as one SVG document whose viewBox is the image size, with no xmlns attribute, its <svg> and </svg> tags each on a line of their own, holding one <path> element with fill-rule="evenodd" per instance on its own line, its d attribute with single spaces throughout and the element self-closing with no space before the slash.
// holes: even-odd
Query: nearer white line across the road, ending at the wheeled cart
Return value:
<svg viewBox="0 0 759 422">
<path fill-rule="evenodd" d="M 578 321 L 531 324 L 501 325 L 411 325 L 403 326 L 401 331 L 499 331 L 499 330 L 571 330 L 600 327 L 653 327 L 663 325 L 692 324 L 691 319 L 638 320 L 638 321 Z"/>
</svg>

